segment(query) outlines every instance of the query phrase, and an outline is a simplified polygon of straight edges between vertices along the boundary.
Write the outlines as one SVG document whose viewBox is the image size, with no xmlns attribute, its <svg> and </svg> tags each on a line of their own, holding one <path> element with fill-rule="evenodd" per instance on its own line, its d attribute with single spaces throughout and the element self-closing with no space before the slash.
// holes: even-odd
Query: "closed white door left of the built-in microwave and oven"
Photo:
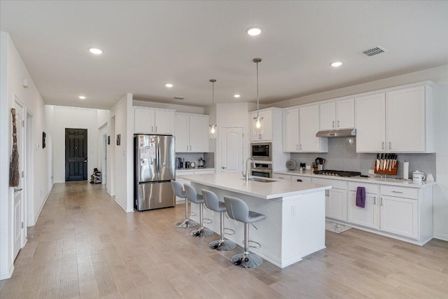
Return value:
<svg viewBox="0 0 448 299">
<path fill-rule="evenodd" d="M 221 172 L 243 171 L 244 130 L 242 127 L 222 127 L 219 131 Z"/>
</svg>

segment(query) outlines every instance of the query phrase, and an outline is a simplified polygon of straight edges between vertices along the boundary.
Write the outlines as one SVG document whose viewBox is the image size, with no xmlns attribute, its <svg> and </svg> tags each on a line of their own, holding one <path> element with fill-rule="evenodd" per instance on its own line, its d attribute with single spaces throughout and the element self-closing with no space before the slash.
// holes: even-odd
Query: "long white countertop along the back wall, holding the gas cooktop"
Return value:
<svg viewBox="0 0 448 299">
<path fill-rule="evenodd" d="M 356 181 L 363 183 L 379 183 L 381 185 L 391 185 L 391 186 L 402 186 L 402 187 L 410 187 L 410 188 L 425 188 L 428 186 L 435 185 L 435 182 L 415 182 L 412 180 L 405 181 L 403 179 L 392 179 L 392 178 L 380 178 L 378 176 L 369 176 L 368 178 L 363 178 L 360 176 L 351 176 L 351 177 L 342 177 L 342 176 L 326 176 L 323 174 L 311 174 L 309 172 L 302 173 L 299 170 L 275 170 L 276 174 L 288 174 L 293 176 L 307 176 L 311 178 L 319 178 L 319 179 L 335 179 L 339 181 Z"/>
</svg>

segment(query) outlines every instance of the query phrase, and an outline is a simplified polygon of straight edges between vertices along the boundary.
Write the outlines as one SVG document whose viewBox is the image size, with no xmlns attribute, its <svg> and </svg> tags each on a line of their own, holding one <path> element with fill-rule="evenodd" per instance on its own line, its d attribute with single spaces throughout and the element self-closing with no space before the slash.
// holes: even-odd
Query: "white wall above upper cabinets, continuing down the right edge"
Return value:
<svg viewBox="0 0 448 299">
<path fill-rule="evenodd" d="M 347 88 L 289 99 L 272 104 L 272 106 L 284 108 L 421 81 L 433 81 L 436 83 L 434 88 L 434 133 L 437 168 L 435 179 L 437 185 L 434 188 L 433 230 L 434 237 L 448 241 L 448 64 L 374 82 L 353 85 Z"/>
</svg>

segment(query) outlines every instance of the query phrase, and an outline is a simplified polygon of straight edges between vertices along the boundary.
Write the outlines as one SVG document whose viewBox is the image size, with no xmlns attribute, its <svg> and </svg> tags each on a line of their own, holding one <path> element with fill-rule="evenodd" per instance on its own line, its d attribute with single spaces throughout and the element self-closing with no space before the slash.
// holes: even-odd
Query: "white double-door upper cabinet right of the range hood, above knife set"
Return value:
<svg viewBox="0 0 448 299">
<path fill-rule="evenodd" d="M 433 153 L 432 86 L 357 97 L 356 151 Z"/>
</svg>

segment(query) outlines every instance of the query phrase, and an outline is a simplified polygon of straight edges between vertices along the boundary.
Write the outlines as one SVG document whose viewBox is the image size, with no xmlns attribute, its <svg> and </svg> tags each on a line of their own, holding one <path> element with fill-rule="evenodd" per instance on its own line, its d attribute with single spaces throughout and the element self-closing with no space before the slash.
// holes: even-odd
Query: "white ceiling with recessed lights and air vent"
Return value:
<svg viewBox="0 0 448 299">
<path fill-rule="evenodd" d="M 254 57 L 262 104 L 448 64 L 448 1 L 1 0 L 0 29 L 46 104 L 97 109 L 256 102 Z"/>
</svg>

